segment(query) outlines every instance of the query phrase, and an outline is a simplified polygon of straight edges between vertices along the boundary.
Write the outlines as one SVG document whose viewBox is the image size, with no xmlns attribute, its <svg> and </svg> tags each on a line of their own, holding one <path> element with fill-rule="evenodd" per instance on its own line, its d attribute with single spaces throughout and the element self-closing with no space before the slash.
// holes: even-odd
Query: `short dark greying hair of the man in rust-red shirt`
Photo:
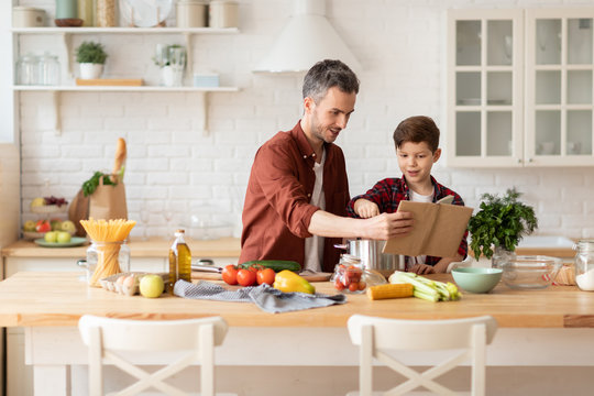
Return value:
<svg viewBox="0 0 594 396">
<path fill-rule="evenodd" d="M 359 94 L 359 78 L 340 61 L 320 61 L 307 72 L 304 78 L 304 99 L 310 97 L 318 102 L 332 87 L 338 87 L 345 94 Z"/>
</svg>

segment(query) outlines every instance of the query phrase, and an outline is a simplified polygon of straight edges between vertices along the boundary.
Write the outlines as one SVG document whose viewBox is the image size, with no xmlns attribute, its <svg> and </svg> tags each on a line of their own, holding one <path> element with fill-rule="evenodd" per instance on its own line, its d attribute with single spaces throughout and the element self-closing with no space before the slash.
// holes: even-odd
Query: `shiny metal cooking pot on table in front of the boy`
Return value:
<svg viewBox="0 0 594 396">
<path fill-rule="evenodd" d="M 404 271 L 405 256 L 398 254 L 382 253 L 386 241 L 375 240 L 346 240 L 345 244 L 334 245 L 343 249 L 349 254 L 361 258 L 361 263 L 369 270 L 378 271 Z"/>
</svg>

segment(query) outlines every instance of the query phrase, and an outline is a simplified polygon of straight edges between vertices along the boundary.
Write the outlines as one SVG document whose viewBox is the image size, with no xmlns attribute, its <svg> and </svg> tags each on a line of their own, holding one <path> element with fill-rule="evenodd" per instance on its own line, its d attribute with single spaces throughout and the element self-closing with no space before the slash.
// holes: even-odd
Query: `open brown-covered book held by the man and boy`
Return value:
<svg viewBox="0 0 594 396">
<path fill-rule="evenodd" d="M 389 239 L 384 253 L 452 257 L 458 253 L 473 208 L 431 202 L 400 201 L 398 211 L 413 213 L 413 231 Z"/>
</svg>

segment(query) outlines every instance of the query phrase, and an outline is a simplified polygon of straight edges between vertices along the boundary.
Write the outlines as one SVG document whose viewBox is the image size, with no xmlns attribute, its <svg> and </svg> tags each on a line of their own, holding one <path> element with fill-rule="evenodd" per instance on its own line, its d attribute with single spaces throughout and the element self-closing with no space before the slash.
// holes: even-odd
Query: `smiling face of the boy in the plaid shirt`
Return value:
<svg viewBox="0 0 594 396">
<path fill-rule="evenodd" d="M 422 184 L 431 179 L 431 167 L 439 160 L 441 148 L 431 153 L 426 142 L 404 142 L 396 148 L 398 166 L 407 183 Z"/>
</svg>

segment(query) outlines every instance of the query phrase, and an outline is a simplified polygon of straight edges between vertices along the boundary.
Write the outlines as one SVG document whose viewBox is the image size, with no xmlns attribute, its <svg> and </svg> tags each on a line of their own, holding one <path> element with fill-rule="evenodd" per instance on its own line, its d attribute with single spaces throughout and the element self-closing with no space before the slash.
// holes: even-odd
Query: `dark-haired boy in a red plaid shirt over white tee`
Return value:
<svg viewBox="0 0 594 396">
<path fill-rule="evenodd" d="M 441 155 L 438 147 L 439 128 L 432 119 L 424 116 L 407 118 L 394 131 L 394 143 L 403 177 L 383 179 L 366 194 L 351 199 L 346 208 L 349 216 L 367 219 L 395 212 L 402 200 L 436 202 L 449 195 L 454 197 L 452 205 L 464 206 L 458 194 L 431 176 L 431 167 Z M 451 262 L 462 261 L 466 256 L 468 233 L 464 233 L 455 256 L 406 257 L 406 271 L 416 274 L 444 273 Z"/>
</svg>

